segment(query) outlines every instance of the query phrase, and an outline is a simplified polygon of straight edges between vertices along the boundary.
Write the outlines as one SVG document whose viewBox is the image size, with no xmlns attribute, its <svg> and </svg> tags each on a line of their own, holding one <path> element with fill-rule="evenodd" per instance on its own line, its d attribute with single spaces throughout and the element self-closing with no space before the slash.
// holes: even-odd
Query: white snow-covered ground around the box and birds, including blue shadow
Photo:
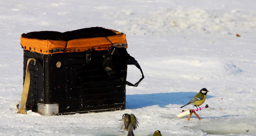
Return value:
<svg viewBox="0 0 256 136">
<path fill-rule="evenodd" d="M 255 0 L 0 1 L 0 135 L 126 136 L 122 115 L 139 119 L 136 136 L 256 136 Z M 65 116 L 18 114 L 23 83 L 20 35 L 101 26 L 127 34 L 143 68 L 127 86 L 126 110 Z M 237 37 L 239 34 L 241 37 Z M 140 71 L 129 66 L 128 81 Z M 201 120 L 177 114 L 201 88 Z"/>
</svg>

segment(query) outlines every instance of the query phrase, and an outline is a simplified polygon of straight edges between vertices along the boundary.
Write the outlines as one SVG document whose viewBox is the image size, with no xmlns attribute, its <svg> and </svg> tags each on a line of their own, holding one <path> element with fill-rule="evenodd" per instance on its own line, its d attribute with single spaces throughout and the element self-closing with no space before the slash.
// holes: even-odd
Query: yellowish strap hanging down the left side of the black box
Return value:
<svg viewBox="0 0 256 136">
<path fill-rule="evenodd" d="M 29 73 L 29 62 L 33 60 L 35 61 L 34 58 L 29 58 L 27 61 L 27 66 L 26 66 L 26 77 L 23 85 L 23 91 L 21 95 L 21 100 L 20 100 L 20 108 L 18 109 L 18 113 L 21 114 L 26 114 L 26 101 L 28 98 L 28 93 L 29 93 L 29 84 L 30 84 L 30 73 Z"/>
</svg>

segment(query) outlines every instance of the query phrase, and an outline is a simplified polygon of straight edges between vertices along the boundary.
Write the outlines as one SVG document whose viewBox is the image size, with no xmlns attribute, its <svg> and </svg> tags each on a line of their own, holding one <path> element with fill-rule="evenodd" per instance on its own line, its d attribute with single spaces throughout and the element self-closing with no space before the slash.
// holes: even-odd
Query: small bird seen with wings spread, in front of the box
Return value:
<svg viewBox="0 0 256 136">
<path fill-rule="evenodd" d="M 128 130 L 127 136 L 134 136 L 133 130 L 135 130 L 138 127 L 138 124 L 140 124 L 137 120 L 137 117 L 134 116 L 134 114 L 127 114 L 125 113 L 122 116 L 122 119 L 124 121 L 125 130 Z"/>
</svg>

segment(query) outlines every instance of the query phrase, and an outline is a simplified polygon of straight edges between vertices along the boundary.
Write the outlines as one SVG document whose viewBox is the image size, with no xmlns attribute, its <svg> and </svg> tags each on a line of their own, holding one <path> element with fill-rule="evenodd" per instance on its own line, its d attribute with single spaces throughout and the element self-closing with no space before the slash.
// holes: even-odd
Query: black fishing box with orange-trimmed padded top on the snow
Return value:
<svg viewBox="0 0 256 136">
<path fill-rule="evenodd" d="M 125 34 L 111 29 L 30 32 L 20 44 L 24 86 L 18 109 L 41 115 L 123 110 L 125 85 L 144 78 L 126 51 Z M 129 64 L 142 73 L 136 84 L 126 81 Z"/>
</svg>

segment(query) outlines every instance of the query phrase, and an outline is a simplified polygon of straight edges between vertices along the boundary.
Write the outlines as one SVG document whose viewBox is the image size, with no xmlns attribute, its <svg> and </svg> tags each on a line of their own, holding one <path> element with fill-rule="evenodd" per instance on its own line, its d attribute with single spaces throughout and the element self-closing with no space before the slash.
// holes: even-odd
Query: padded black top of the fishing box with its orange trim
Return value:
<svg viewBox="0 0 256 136">
<path fill-rule="evenodd" d="M 100 51 L 114 47 L 127 48 L 125 34 L 102 27 L 83 28 L 64 33 L 35 31 L 22 34 L 20 45 L 24 50 L 41 54 L 77 51 Z"/>
</svg>

